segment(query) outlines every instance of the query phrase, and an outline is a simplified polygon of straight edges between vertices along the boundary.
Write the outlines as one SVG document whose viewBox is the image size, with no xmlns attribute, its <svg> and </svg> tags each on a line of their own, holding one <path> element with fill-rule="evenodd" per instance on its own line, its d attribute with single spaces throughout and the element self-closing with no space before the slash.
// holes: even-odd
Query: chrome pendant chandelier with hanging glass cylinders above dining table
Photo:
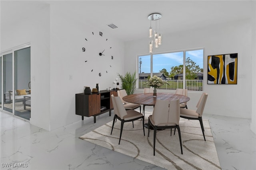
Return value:
<svg viewBox="0 0 256 170">
<path fill-rule="evenodd" d="M 149 37 L 151 38 L 151 40 L 149 41 L 149 53 L 153 53 L 153 46 L 155 48 L 158 48 L 159 45 L 162 44 L 162 35 L 160 33 L 160 18 L 162 18 L 162 15 L 159 13 L 153 13 L 148 16 L 148 20 L 150 20 Z M 159 20 L 158 29 L 157 29 L 157 20 Z M 155 25 L 156 25 L 154 33 L 152 32 L 152 27 L 151 27 L 152 21 L 155 21 Z"/>
</svg>

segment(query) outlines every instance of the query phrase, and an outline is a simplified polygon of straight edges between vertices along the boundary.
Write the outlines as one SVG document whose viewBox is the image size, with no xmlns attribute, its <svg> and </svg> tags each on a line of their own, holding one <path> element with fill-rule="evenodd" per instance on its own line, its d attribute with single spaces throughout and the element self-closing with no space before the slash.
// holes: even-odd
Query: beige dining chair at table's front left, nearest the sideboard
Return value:
<svg viewBox="0 0 256 170">
<path fill-rule="evenodd" d="M 144 132 L 144 136 L 145 136 L 144 116 L 143 116 L 143 114 L 139 113 L 138 111 L 135 111 L 133 109 L 126 110 L 124 108 L 124 105 L 122 104 L 122 101 L 121 101 L 120 97 L 118 97 L 118 96 L 114 96 L 112 94 L 111 99 L 112 99 L 112 103 L 113 103 L 113 107 L 114 107 L 114 113 L 115 113 L 114 119 L 113 119 L 112 129 L 111 129 L 111 133 L 110 133 L 111 135 L 112 135 L 113 127 L 114 127 L 114 124 L 115 124 L 115 120 L 118 119 L 118 120 L 121 121 L 121 129 L 120 129 L 120 137 L 119 137 L 118 145 L 120 145 L 123 126 L 124 126 L 125 122 L 129 122 L 129 121 L 133 122 L 135 120 L 142 119 L 143 132 Z"/>
</svg>

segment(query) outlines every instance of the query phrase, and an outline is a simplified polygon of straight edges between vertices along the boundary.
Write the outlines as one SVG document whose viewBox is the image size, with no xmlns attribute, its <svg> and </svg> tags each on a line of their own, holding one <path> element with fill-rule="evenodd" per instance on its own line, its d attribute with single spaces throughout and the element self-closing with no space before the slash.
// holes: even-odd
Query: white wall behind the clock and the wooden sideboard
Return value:
<svg viewBox="0 0 256 170">
<path fill-rule="evenodd" d="M 51 130 L 81 120 L 81 116 L 75 115 L 75 94 L 82 93 L 84 86 L 92 89 L 99 83 L 100 90 L 113 88 L 112 82 L 118 77 L 117 73 L 124 72 L 124 43 L 111 38 L 108 33 L 111 28 L 94 27 L 81 20 L 80 16 L 68 13 L 65 10 L 69 8 L 68 3 L 62 2 L 62 8 L 59 6 L 59 2 L 52 3 L 50 12 Z M 83 10 L 79 3 L 72 8 Z M 84 12 L 84 16 L 88 15 L 86 10 Z M 86 48 L 85 52 L 82 52 L 82 47 Z M 100 57 L 99 53 L 104 49 L 105 56 Z M 114 56 L 113 60 L 110 59 L 111 55 Z M 99 72 L 102 76 L 99 76 Z"/>
</svg>

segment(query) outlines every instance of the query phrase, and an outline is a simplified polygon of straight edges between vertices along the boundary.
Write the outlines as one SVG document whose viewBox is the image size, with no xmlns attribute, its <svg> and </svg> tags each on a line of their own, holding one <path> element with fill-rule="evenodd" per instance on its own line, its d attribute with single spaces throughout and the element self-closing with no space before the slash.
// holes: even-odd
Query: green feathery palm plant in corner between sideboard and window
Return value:
<svg viewBox="0 0 256 170">
<path fill-rule="evenodd" d="M 118 76 L 122 82 L 122 89 L 126 90 L 126 93 L 128 95 L 133 94 L 136 86 L 136 72 L 134 74 L 131 74 L 130 72 L 126 72 L 124 76 L 120 75 L 118 73 Z"/>
</svg>

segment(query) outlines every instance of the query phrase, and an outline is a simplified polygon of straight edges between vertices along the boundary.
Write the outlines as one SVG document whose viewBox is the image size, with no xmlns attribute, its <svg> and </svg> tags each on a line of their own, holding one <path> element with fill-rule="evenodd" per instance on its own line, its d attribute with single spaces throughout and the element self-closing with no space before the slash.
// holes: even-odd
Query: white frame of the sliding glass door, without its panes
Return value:
<svg viewBox="0 0 256 170">
<path fill-rule="evenodd" d="M 27 48 L 27 47 L 30 47 L 31 48 L 31 45 L 30 45 L 30 43 L 26 43 L 26 44 L 23 44 L 23 45 L 19 45 L 19 46 L 17 46 L 17 47 L 13 47 L 13 48 L 11 48 L 11 49 L 8 49 L 8 50 L 6 50 L 6 51 L 3 51 L 3 52 L 1 52 L 0 53 L 0 56 L 1 56 L 1 60 L 2 60 L 2 70 L 1 70 L 1 73 L 2 73 L 2 80 L 1 80 L 1 87 L 2 87 L 2 96 L 1 96 L 1 101 L 2 101 L 2 107 L 0 108 L 0 110 L 1 111 L 4 111 L 4 78 L 3 78 L 3 76 L 4 76 L 4 68 L 3 68 L 3 66 L 4 66 L 4 55 L 7 55 L 7 54 L 10 54 L 10 53 L 12 53 L 12 92 L 15 92 L 15 87 L 14 87 L 14 85 L 15 85 L 15 82 L 14 82 L 14 80 L 15 80 L 15 68 L 14 68 L 14 63 L 15 63 L 15 61 L 14 61 L 14 52 L 15 51 L 17 51 L 17 50 L 20 50 L 20 49 L 24 49 L 24 48 Z M 31 57 L 31 54 L 30 54 L 30 57 Z M 30 61 L 31 61 L 31 58 L 30 58 Z M 31 68 L 30 68 L 31 69 Z M 13 93 L 14 94 L 14 93 Z M 12 96 L 13 97 L 13 99 L 15 100 L 15 96 Z M 15 102 L 12 102 L 12 112 L 9 112 L 9 111 L 5 111 L 5 112 L 7 112 L 7 113 L 11 113 L 13 116 L 16 116 L 16 115 L 14 115 L 14 113 L 15 113 Z M 16 117 L 18 117 L 18 116 L 16 116 Z M 22 117 L 19 117 L 19 118 L 21 118 L 21 119 L 24 119 L 24 118 L 22 118 Z M 28 121 L 27 119 L 24 119 L 24 120 L 26 120 L 26 121 Z"/>
</svg>

